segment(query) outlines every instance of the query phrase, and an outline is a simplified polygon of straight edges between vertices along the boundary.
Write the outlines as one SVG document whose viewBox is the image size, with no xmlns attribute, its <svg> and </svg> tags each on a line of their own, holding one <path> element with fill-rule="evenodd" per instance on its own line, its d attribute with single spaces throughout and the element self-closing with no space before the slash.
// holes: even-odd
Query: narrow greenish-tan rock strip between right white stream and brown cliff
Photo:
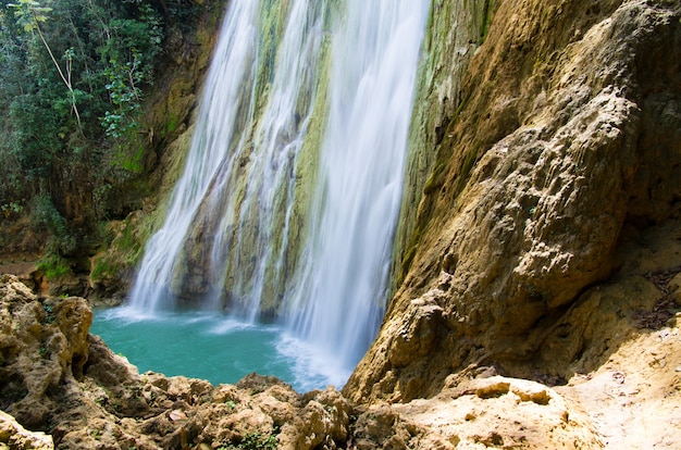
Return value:
<svg viewBox="0 0 681 450">
<path fill-rule="evenodd" d="M 393 258 L 392 289 L 404 279 L 416 252 L 416 216 L 449 122 L 461 107 L 461 82 L 485 37 L 492 13 L 488 0 L 433 1 L 409 132 L 405 188 Z"/>
</svg>

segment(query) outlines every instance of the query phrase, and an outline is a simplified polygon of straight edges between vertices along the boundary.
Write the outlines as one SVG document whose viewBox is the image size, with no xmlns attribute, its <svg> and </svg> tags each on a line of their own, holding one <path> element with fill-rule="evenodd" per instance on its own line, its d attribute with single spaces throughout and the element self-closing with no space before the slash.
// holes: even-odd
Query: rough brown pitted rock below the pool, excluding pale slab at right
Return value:
<svg viewBox="0 0 681 450">
<path fill-rule="evenodd" d="M 84 299 L 38 299 L 9 275 L 0 295 L 1 407 L 23 426 L 48 430 L 59 448 L 333 449 L 354 439 L 357 412 L 335 388 L 300 395 L 257 374 L 218 387 L 140 375 L 88 335 Z"/>
</svg>

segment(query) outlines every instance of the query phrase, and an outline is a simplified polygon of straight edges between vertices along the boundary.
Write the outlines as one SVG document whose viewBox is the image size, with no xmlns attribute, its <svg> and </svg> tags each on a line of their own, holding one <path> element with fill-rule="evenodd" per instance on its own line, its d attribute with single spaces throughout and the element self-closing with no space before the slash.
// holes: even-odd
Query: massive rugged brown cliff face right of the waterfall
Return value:
<svg viewBox="0 0 681 450">
<path fill-rule="evenodd" d="M 678 249 L 681 7 L 493 9 L 460 103 L 438 121 L 404 282 L 345 388 L 357 401 L 431 397 L 475 365 L 566 383 L 634 325 L 671 316 L 656 307 L 668 278 L 651 279 L 681 253 L 643 249 Z M 623 335 L 599 330 L 605 317 Z"/>
</svg>

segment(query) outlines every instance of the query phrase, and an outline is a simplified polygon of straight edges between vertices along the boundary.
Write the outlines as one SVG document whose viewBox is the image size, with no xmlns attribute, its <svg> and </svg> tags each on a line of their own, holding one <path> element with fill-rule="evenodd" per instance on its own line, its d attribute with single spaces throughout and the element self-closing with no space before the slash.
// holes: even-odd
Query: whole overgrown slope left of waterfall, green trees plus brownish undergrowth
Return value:
<svg viewBox="0 0 681 450">
<path fill-rule="evenodd" d="M 145 97 L 190 0 L 0 2 L 0 220 L 29 215 L 57 272 L 111 218 L 108 200 L 143 179 Z M 116 209 L 116 214 L 126 211 Z M 51 271 L 54 274 L 54 271 Z"/>
</svg>

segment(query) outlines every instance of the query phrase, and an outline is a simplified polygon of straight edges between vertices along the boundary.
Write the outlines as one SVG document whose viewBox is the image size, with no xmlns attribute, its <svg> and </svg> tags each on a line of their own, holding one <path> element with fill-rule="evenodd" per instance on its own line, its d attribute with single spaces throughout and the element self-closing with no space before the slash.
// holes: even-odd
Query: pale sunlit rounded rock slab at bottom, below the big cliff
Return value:
<svg viewBox="0 0 681 450">
<path fill-rule="evenodd" d="M 580 410 L 523 379 L 467 378 L 433 399 L 393 409 L 421 430 L 417 448 L 602 448 Z"/>
</svg>

